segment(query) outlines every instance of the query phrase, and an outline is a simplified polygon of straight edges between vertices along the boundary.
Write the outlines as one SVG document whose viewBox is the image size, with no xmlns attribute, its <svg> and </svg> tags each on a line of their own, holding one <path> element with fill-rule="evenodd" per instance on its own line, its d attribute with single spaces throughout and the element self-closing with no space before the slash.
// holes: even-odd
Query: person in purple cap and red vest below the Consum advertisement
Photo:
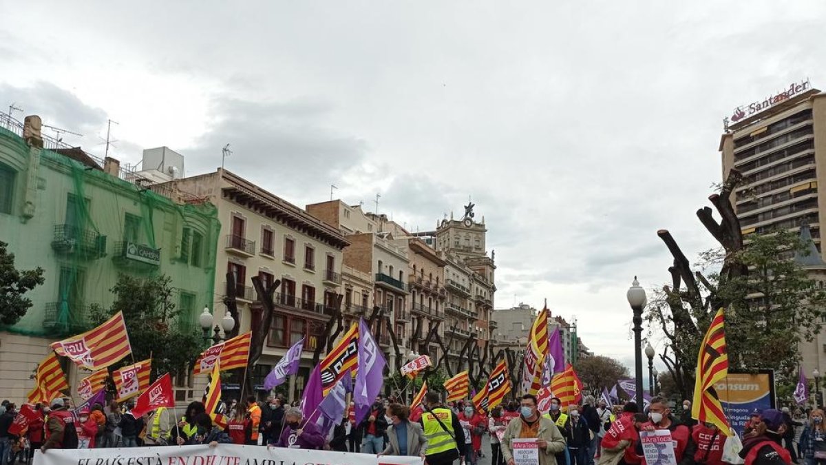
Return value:
<svg viewBox="0 0 826 465">
<path fill-rule="evenodd" d="M 752 434 L 743 439 L 740 458 L 746 465 L 790 465 L 791 455 L 781 439 L 786 432 L 783 414 L 780 410 L 767 409 L 760 412 L 760 423 L 753 427 Z"/>
</svg>

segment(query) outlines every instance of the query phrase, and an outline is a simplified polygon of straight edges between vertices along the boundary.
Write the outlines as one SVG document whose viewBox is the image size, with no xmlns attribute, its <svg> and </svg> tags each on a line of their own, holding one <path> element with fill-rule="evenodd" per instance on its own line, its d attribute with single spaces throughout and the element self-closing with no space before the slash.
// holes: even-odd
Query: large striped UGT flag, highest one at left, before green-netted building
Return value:
<svg viewBox="0 0 826 465">
<path fill-rule="evenodd" d="M 122 312 L 117 312 L 97 328 L 52 343 L 50 347 L 58 355 L 69 357 L 80 367 L 93 371 L 106 368 L 132 353 Z"/>
</svg>

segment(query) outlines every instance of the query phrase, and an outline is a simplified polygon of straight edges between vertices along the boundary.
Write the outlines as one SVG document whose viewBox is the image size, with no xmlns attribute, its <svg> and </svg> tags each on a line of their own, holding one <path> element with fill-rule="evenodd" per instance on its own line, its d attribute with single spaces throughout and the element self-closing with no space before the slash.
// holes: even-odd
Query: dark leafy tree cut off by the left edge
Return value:
<svg viewBox="0 0 826 465">
<path fill-rule="evenodd" d="M 0 323 L 16 324 L 31 307 L 26 292 L 43 284 L 43 268 L 17 270 L 14 254 L 6 252 L 6 242 L 0 241 Z"/>
</svg>

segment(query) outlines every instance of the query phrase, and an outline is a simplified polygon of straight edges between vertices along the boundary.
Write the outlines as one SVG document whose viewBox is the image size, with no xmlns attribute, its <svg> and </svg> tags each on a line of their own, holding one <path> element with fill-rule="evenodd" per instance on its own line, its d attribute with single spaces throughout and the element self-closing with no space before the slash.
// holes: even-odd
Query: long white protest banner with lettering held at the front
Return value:
<svg viewBox="0 0 826 465">
<path fill-rule="evenodd" d="M 421 465 L 419 457 L 218 444 L 146 448 L 50 449 L 34 465 Z"/>
</svg>

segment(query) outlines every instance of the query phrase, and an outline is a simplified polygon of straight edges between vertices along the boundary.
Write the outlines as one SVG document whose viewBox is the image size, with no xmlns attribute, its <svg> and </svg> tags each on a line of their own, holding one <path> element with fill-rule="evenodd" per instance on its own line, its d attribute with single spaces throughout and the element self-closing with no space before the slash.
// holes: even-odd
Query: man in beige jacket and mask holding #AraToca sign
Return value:
<svg viewBox="0 0 826 465">
<path fill-rule="evenodd" d="M 515 465 L 513 439 L 536 439 L 539 465 L 557 464 L 555 454 L 565 450 L 565 439 L 551 419 L 539 415 L 536 396 L 526 394 L 520 402 L 520 416 L 510 420 L 502 436 L 502 456 L 508 465 Z"/>
</svg>

